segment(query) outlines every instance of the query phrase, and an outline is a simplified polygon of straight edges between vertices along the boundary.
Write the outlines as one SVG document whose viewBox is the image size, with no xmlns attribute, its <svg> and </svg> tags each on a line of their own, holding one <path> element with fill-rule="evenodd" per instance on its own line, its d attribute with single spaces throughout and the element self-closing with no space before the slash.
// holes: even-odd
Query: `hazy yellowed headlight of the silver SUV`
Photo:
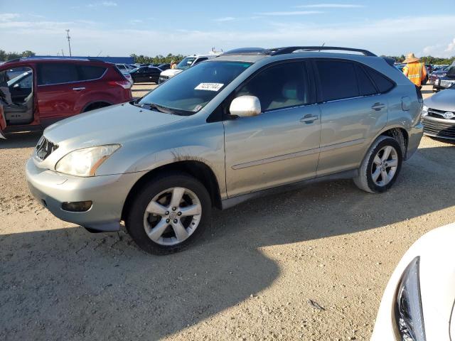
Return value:
<svg viewBox="0 0 455 341">
<path fill-rule="evenodd" d="M 94 176 L 97 168 L 120 148 L 119 144 L 77 149 L 60 158 L 55 171 L 76 176 Z"/>
</svg>

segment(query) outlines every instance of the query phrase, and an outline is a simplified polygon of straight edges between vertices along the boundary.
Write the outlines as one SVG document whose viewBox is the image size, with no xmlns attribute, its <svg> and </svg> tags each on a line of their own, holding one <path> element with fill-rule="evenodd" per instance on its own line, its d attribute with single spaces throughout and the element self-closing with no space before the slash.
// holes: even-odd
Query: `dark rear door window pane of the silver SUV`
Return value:
<svg viewBox="0 0 455 341">
<path fill-rule="evenodd" d="M 323 102 L 360 96 L 355 65 L 340 60 L 316 60 Z"/>
</svg>

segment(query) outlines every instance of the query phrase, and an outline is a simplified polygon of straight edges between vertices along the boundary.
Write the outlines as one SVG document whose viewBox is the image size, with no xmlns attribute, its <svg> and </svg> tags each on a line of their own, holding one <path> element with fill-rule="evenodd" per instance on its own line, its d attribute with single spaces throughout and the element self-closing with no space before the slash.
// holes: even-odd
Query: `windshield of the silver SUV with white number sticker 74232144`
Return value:
<svg viewBox="0 0 455 341">
<path fill-rule="evenodd" d="M 172 114 L 191 115 L 205 107 L 251 63 L 200 63 L 147 94 L 139 105 L 166 108 Z"/>
</svg>

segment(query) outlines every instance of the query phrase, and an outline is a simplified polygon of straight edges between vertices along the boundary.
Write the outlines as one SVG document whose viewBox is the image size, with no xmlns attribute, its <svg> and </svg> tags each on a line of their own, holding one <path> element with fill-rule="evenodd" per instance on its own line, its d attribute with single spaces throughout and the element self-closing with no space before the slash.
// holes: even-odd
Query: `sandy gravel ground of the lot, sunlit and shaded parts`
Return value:
<svg viewBox="0 0 455 341">
<path fill-rule="evenodd" d="M 343 180 L 264 197 L 151 256 L 33 200 L 37 139 L 0 141 L 0 340 L 368 340 L 397 261 L 455 216 L 454 144 L 424 137 L 387 193 Z"/>
</svg>

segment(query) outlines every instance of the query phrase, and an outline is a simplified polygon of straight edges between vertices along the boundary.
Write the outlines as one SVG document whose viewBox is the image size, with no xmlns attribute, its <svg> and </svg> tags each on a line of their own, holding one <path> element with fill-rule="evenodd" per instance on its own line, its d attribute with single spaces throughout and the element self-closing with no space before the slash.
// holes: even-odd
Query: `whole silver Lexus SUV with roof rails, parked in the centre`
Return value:
<svg viewBox="0 0 455 341">
<path fill-rule="evenodd" d="M 232 50 L 48 127 L 28 184 L 60 219 L 124 222 L 153 254 L 196 240 L 213 207 L 338 178 L 381 193 L 422 138 L 422 94 L 392 65 L 351 48 Z"/>
</svg>

